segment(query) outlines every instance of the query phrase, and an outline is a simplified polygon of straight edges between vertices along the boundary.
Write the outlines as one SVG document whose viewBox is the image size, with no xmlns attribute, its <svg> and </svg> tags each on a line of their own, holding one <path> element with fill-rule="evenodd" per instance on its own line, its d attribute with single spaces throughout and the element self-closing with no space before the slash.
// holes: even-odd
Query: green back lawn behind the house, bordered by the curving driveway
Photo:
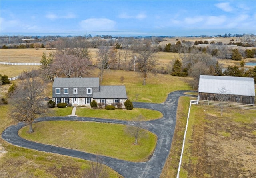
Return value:
<svg viewBox="0 0 256 178">
<path fill-rule="evenodd" d="M 113 77 L 115 76 L 115 77 Z M 124 76 L 123 83 L 120 77 Z M 146 85 L 142 85 L 141 74 L 132 71 L 111 70 L 104 74 L 102 85 L 125 85 L 128 99 L 136 102 L 162 103 L 170 92 L 192 90 L 190 77 L 149 74 Z"/>
</svg>

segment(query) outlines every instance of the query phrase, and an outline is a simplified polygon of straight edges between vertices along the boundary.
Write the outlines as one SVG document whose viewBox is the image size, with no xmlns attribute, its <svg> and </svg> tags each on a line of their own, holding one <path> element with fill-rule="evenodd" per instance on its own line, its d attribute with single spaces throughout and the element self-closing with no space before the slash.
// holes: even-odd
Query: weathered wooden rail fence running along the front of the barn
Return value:
<svg viewBox="0 0 256 178">
<path fill-rule="evenodd" d="M 200 100 L 199 104 L 202 105 L 212 105 L 212 106 L 220 106 L 220 102 L 217 101 L 207 101 Z M 247 109 L 247 110 L 256 110 L 256 106 L 252 104 L 243 104 L 243 103 L 235 103 L 235 102 L 224 102 L 224 107 L 227 108 L 238 108 L 238 109 Z"/>
</svg>

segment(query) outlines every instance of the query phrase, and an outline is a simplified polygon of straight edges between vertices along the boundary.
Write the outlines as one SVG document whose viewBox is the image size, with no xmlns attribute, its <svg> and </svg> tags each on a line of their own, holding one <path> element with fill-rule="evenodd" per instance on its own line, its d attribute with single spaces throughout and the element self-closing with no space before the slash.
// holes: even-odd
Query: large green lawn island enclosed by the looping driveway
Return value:
<svg viewBox="0 0 256 178">
<path fill-rule="evenodd" d="M 134 145 L 134 137 L 124 131 L 125 125 L 79 122 L 47 121 L 34 124 L 34 133 L 28 126 L 19 135 L 31 141 L 56 145 L 133 162 L 146 161 L 156 146 L 156 135 L 144 130 L 145 137 Z"/>
</svg>

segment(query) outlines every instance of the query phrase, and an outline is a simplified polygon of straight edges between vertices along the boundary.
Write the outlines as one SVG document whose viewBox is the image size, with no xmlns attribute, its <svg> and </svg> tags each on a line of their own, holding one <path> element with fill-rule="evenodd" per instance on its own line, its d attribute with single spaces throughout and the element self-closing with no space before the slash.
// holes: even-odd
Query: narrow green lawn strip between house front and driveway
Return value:
<svg viewBox="0 0 256 178">
<path fill-rule="evenodd" d="M 119 119 L 119 120 L 132 120 L 139 115 L 142 115 L 144 120 L 159 119 L 163 115 L 159 111 L 148 110 L 143 108 L 133 108 L 132 110 L 116 109 L 116 110 L 105 110 L 105 109 L 91 109 L 76 108 L 76 115 L 81 117 L 98 117 L 106 119 Z"/>
</svg>

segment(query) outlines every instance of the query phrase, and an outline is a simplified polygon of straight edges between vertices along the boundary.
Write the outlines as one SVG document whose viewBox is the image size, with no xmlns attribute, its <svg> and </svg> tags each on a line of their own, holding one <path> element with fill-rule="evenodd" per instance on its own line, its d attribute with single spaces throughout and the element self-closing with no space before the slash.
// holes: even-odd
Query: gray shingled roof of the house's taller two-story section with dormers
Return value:
<svg viewBox="0 0 256 178">
<path fill-rule="evenodd" d="M 98 77 L 54 78 L 52 87 L 99 87 Z"/>
</svg>

